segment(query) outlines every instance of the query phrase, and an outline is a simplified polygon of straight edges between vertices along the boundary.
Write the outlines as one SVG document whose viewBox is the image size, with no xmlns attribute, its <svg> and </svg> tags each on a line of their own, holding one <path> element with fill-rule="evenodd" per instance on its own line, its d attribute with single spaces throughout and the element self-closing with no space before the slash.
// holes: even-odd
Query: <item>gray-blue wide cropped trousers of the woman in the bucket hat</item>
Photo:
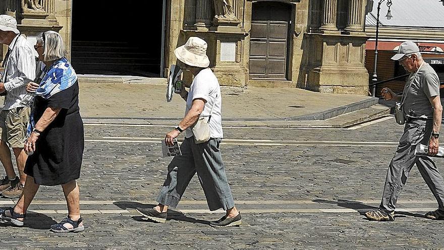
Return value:
<svg viewBox="0 0 444 250">
<path fill-rule="evenodd" d="M 234 199 L 219 151 L 221 141 L 221 138 L 210 138 L 196 144 L 194 137 L 185 138 L 180 146 L 182 156 L 175 156 L 168 165 L 167 179 L 156 201 L 175 209 L 197 172 L 209 210 L 233 208 Z"/>
</svg>

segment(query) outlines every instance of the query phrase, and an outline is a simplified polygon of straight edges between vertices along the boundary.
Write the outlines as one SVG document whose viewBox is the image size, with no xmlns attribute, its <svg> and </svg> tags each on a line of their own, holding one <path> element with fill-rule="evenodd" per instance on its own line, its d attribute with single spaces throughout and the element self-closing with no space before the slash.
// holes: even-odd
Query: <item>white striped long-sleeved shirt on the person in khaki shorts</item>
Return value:
<svg viewBox="0 0 444 250">
<path fill-rule="evenodd" d="M 3 81 L 7 95 L 5 96 L 4 110 L 24 107 L 20 102 L 26 95 L 26 85 L 35 78 L 36 58 L 32 48 L 22 35 L 17 35 L 8 47 L 9 58 L 5 65 Z"/>
</svg>

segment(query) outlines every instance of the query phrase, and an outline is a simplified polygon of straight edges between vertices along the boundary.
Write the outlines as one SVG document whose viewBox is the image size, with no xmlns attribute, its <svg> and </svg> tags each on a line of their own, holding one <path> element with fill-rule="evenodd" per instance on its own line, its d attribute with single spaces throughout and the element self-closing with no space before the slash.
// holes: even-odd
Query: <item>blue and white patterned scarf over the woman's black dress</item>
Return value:
<svg viewBox="0 0 444 250">
<path fill-rule="evenodd" d="M 77 81 L 76 72 L 66 58 L 55 61 L 50 67 L 45 69 L 45 72 L 46 74 L 41 80 L 40 86 L 35 91 L 35 95 L 45 99 L 71 87 Z M 34 104 L 32 106 L 34 106 Z M 31 107 L 31 116 L 29 118 L 26 138 L 29 137 L 34 126 L 34 107 Z"/>
</svg>

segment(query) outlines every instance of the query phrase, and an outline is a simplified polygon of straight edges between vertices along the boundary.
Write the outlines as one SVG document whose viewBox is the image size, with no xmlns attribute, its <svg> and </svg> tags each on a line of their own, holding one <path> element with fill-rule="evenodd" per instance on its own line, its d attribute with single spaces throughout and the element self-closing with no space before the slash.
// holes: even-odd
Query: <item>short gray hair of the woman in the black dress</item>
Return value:
<svg viewBox="0 0 444 250">
<path fill-rule="evenodd" d="M 45 62 L 59 60 L 68 54 L 62 36 L 55 31 L 42 32 L 37 35 L 36 39 L 37 43 L 43 44 L 43 60 Z"/>
</svg>

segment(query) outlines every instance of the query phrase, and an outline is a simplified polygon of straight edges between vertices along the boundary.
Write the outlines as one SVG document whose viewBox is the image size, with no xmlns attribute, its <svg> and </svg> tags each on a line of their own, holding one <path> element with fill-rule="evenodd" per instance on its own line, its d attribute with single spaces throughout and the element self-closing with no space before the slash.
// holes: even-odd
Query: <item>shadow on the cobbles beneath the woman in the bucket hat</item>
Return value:
<svg viewBox="0 0 444 250">
<path fill-rule="evenodd" d="M 136 208 L 154 208 L 156 206 L 156 205 L 152 205 L 152 204 L 141 204 L 138 202 L 115 202 L 113 204 L 118 206 L 119 208 L 125 209 L 125 210 L 126 209 L 136 209 Z M 136 221 L 149 221 L 152 223 L 157 223 L 157 222 L 151 221 L 143 216 L 132 216 L 132 218 L 133 218 L 133 220 L 136 220 Z M 181 213 L 179 211 L 175 211 L 175 210 L 168 210 L 167 221 L 169 221 L 169 220 L 184 221 L 184 222 L 190 222 L 190 223 L 200 223 L 200 224 L 205 224 L 205 225 L 210 224 L 209 221 L 193 219 L 193 218 L 187 217 L 183 213 Z"/>
</svg>

